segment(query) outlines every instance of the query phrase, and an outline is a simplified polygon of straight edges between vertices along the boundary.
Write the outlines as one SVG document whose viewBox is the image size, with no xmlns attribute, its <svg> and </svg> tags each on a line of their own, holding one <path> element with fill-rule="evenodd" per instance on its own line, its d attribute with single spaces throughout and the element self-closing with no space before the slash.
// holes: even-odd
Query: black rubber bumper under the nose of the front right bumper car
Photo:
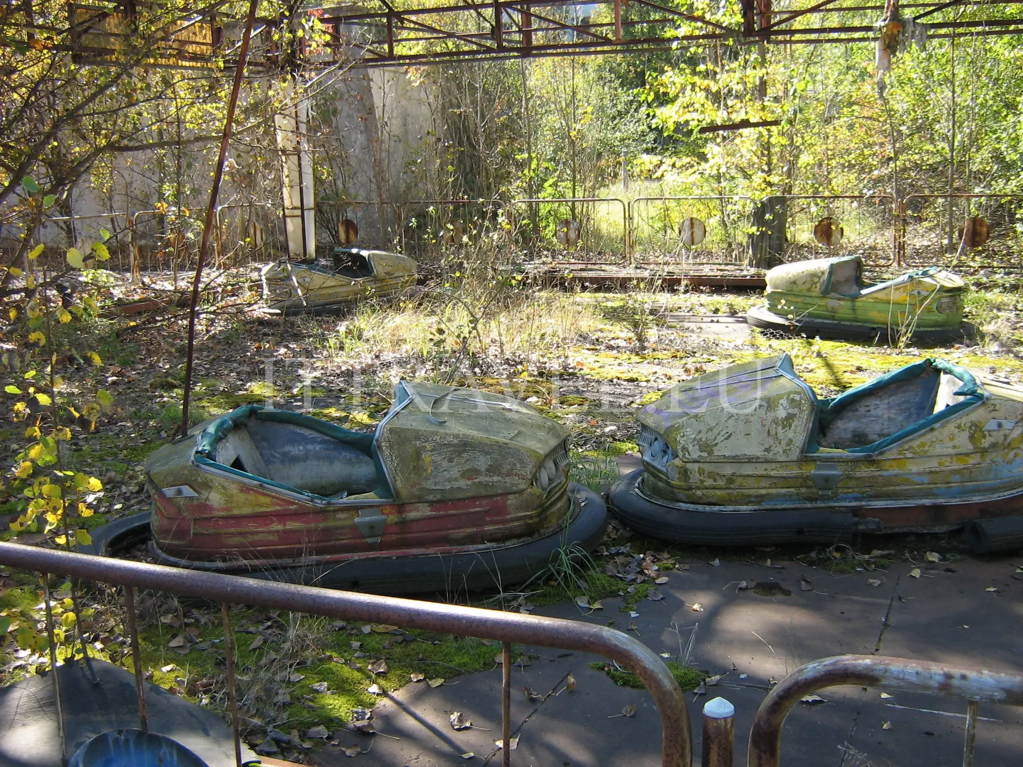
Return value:
<svg viewBox="0 0 1023 767">
<path fill-rule="evenodd" d="M 609 500 L 618 518 L 651 538 L 704 546 L 752 546 L 833 543 L 855 532 L 849 511 L 706 511 L 655 503 L 635 492 L 642 475 L 641 468 L 625 475 L 612 488 Z"/>
</svg>

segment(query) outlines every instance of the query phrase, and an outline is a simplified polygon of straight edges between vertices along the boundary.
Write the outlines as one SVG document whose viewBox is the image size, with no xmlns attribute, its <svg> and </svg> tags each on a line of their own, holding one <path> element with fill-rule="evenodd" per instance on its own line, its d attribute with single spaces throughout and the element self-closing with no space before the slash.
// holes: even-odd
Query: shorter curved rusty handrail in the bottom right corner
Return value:
<svg viewBox="0 0 1023 767">
<path fill-rule="evenodd" d="M 800 666 L 767 693 L 750 729 L 749 767 L 777 767 L 782 725 L 799 700 L 825 687 L 854 684 L 906 692 L 938 692 L 966 698 L 973 705 L 989 701 L 1023 706 L 1023 676 L 995 671 L 959 669 L 928 661 L 883 656 L 836 656 Z M 973 732 L 968 719 L 966 749 L 972 760 Z M 972 764 L 972 761 L 970 762 Z"/>
</svg>

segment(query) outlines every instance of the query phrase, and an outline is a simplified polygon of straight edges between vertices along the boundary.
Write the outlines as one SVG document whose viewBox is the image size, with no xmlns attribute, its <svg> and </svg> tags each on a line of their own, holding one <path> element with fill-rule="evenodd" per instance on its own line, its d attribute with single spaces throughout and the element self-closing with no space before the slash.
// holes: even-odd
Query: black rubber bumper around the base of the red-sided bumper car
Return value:
<svg viewBox="0 0 1023 767">
<path fill-rule="evenodd" d="M 599 495 L 580 485 L 569 493 L 575 506 L 574 517 L 563 528 L 543 538 L 511 545 L 462 553 L 393 556 L 387 551 L 342 562 L 314 563 L 303 568 L 247 570 L 235 563 L 215 569 L 204 562 L 203 570 L 263 578 L 282 583 L 367 591 L 375 594 L 440 593 L 453 598 L 459 593 L 503 589 L 529 581 L 542 573 L 559 550 L 593 550 L 604 538 L 608 508 Z M 113 528 L 119 526 L 116 530 Z M 107 531 L 104 528 L 110 528 Z M 149 530 L 149 512 L 97 528 L 92 534 L 94 553 L 117 555 L 129 538 L 138 541 Z M 149 544 L 149 551 L 162 565 L 188 567 Z M 571 551 L 570 551 L 571 553 Z"/>
</svg>

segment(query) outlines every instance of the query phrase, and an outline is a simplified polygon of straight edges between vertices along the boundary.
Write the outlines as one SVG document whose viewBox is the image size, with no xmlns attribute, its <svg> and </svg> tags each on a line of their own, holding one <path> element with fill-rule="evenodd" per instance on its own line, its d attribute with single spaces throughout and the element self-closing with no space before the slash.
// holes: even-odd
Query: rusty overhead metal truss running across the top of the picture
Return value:
<svg viewBox="0 0 1023 767">
<path fill-rule="evenodd" d="M 929 39 L 1023 34 L 1023 0 L 722 0 L 733 20 L 722 24 L 694 0 L 365 0 L 301 8 L 281 2 L 291 18 L 257 20 L 253 69 L 432 64 L 459 60 L 663 51 L 693 44 L 797 45 L 874 42 L 882 19 L 897 18 Z M 138 59 L 148 66 L 233 64 L 240 22 L 226 0 L 202 0 L 168 18 L 152 0 L 68 3 L 68 29 L 35 20 L 33 0 L 0 0 L 0 30 L 17 30 L 32 44 L 72 51 L 82 63 L 113 63 L 137 55 L 138 19 L 163 14 L 164 40 Z M 278 47 L 285 27 L 317 19 L 325 45 L 308 38 Z M 151 28 L 151 26 L 150 26 Z M 54 33 L 60 40 L 54 40 Z M 294 40 L 294 39 L 293 39 Z"/>
</svg>

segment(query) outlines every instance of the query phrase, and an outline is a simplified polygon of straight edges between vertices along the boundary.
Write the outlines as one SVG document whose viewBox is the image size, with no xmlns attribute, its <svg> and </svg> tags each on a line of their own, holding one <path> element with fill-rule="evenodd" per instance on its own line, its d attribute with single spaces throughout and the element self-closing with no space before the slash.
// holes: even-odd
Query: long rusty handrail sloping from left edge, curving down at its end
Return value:
<svg viewBox="0 0 1023 767">
<path fill-rule="evenodd" d="M 664 661 L 647 645 L 607 626 L 456 604 L 337 591 L 162 565 L 0 542 L 0 563 L 41 573 L 170 591 L 220 602 L 310 613 L 343 620 L 476 636 L 502 642 L 594 652 L 638 676 L 661 714 L 663 767 L 691 767 L 685 696 Z"/>
</svg>

